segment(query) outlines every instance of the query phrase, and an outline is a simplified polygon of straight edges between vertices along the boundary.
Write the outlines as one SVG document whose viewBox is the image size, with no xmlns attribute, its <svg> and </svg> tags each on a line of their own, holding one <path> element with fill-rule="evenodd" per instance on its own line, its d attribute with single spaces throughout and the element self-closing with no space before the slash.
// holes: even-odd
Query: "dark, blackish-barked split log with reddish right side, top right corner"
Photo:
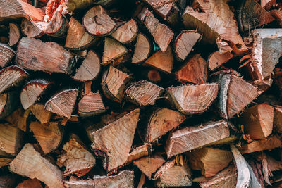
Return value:
<svg viewBox="0 0 282 188">
<path fill-rule="evenodd" d="M 240 30 L 243 31 L 260 27 L 274 20 L 271 14 L 255 0 L 242 1 L 238 12 Z"/>
</svg>

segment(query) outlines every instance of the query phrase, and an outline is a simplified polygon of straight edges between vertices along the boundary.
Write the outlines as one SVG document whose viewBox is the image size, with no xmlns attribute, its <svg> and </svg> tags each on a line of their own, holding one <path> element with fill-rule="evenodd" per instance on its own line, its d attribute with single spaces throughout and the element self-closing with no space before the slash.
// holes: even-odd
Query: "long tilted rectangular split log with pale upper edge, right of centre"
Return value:
<svg viewBox="0 0 282 188">
<path fill-rule="evenodd" d="M 212 144 L 230 136 L 228 123 L 224 120 L 185 127 L 172 132 L 166 142 L 166 155 L 171 156 Z"/>
</svg>

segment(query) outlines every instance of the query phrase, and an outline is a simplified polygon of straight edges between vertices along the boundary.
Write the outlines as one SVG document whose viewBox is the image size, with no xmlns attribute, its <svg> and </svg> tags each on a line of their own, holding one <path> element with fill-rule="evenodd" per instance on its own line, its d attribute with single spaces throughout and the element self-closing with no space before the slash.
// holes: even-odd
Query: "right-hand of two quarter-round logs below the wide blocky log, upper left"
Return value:
<svg viewBox="0 0 282 188">
<path fill-rule="evenodd" d="M 78 89 L 65 89 L 62 92 L 54 94 L 45 104 L 45 109 L 52 113 L 71 118 L 75 101 L 78 96 Z"/>
</svg>

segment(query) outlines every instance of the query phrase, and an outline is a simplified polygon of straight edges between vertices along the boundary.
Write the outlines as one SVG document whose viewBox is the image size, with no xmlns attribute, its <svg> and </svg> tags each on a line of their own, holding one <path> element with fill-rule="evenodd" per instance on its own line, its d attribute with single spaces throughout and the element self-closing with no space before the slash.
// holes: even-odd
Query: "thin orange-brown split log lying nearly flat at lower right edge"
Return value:
<svg viewBox="0 0 282 188">
<path fill-rule="evenodd" d="M 271 150 L 274 148 L 281 147 L 282 142 L 281 140 L 276 136 L 269 137 L 267 139 L 259 139 L 255 140 L 249 144 L 244 144 L 243 146 L 238 147 L 240 153 L 253 153 L 256 151 L 263 151 L 263 150 Z"/>
</svg>

